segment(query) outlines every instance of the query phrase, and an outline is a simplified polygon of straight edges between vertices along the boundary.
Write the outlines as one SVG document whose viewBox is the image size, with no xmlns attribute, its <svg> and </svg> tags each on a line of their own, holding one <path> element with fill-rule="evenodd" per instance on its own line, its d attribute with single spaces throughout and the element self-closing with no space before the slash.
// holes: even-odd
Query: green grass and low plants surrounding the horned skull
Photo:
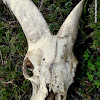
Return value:
<svg viewBox="0 0 100 100">
<path fill-rule="evenodd" d="M 80 0 L 34 0 L 56 34 L 63 21 Z M 42 5 L 41 5 L 42 4 Z M 94 23 L 94 1 L 88 0 L 80 21 L 74 53 L 79 61 L 75 82 L 68 100 L 100 99 L 100 1 L 98 22 Z M 13 13 L 0 2 L 0 100 L 29 100 L 31 83 L 22 75 L 27 41 Z"/>
</svg>

